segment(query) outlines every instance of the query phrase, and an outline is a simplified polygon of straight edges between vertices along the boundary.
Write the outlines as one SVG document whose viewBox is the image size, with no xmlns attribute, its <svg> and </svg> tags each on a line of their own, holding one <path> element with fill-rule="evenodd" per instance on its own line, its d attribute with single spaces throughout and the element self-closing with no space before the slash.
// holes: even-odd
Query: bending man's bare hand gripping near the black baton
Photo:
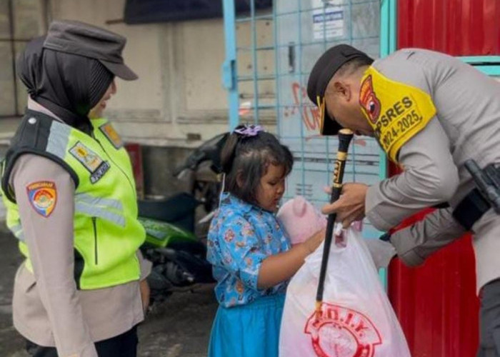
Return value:
<svg viewBox="0 0 500 357">
<path fill-rule="evenodd" d="M 347 228 L 364 218 L 364 201 L 369 186 L 364 183 L 345 183 L 340 198 L 323 206 L 324 214 L 337 213 L 337 221 Z"/>
</svg>

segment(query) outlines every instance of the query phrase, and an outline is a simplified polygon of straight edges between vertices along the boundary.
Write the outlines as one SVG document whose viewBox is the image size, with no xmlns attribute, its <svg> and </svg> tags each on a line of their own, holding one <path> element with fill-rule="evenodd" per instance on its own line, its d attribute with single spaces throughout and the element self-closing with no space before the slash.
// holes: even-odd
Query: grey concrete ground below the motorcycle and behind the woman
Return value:
<svg viewBox="0 0 500 357">
<path fill-rule="evenodd" d="M 21 257 L 16 240 L 0 226 L 0 356 L 26 357 L 24 340 L 12 326 L 14 273 Z M 174 293 L 151 311 L 139 327 L 140 357 L 206 356 L 217 303 L 213 286 Z"/>
</svg>

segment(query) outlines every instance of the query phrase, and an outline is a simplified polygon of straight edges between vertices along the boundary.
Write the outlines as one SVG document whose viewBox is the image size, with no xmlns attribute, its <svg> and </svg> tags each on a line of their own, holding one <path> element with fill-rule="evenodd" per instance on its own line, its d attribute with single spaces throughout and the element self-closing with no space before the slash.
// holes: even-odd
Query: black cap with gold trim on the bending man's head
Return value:
<svg viewBox="0 0 500 357">
<path fill-rule="evenodd" d="M 331 47 L 321 57 L 319 57 L 316 64 L 309 74 L 309 81 L 307 83 L 307 96 L 319 108 L 321 116 L 320 133 L 321 135 L 336 135 L 342 127 L 331 118 L 326 111 L 326 104 L 324 94 L 326 86 L 328 86 L 330 79 L 334 76 L 336 71 L 341 66 L 353 59 L 364 59 L 366 63 L 371 64 L 374 60 L 367 54 L 358 49 L 355 49 L 348 44 L 339 44 Z"/>
</svg>

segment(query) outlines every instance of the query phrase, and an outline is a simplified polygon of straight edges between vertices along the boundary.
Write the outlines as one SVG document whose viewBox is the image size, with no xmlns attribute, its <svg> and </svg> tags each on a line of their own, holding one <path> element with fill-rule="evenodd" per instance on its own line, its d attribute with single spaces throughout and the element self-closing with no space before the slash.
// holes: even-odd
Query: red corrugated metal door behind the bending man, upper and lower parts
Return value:
<svg viewBox="0 0 500 357">
<path fill-rule="evenodd" d="M 500 54 L 500 1 L 399 0 L 397 7 L 398 48 L 419 47 L 454 56 Z M 391 167 L 391 174 L 396 171 Z M 475 285 L 470 236 L 435 253 L 419 268 L 391 263 L 389 297 L 414 357 L 476 356 Z"/>
</svg>

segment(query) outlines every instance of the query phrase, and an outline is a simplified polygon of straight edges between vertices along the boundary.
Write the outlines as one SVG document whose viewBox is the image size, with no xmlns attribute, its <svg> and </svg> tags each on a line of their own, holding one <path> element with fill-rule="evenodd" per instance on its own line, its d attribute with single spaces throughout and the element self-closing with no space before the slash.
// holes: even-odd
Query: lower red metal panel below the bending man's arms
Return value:
<svg viewBox="0 0 500 357">
<path fill-rule="evenodd" d="M 425 210 L 398 228 L 424 219 Z M 478 346 L 479 300 L 471 236 L 434 253 L 419 268 L 394 259 L 389 298 L 414 357 L 473 357 Z"/>
</svg>

